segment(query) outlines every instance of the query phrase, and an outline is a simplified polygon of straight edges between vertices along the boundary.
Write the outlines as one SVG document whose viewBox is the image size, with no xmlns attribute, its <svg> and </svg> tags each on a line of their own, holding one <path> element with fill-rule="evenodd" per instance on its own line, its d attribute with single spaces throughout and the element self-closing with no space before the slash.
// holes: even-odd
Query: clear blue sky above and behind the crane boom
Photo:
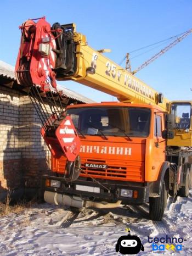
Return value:
<svg viewBox="0 0 192 256">
<path fill-rule="evenodd" d="M 192 28 L 191 13 L 191 0 L 1 0 L 0 59 L 15 65 L 20 43 L 18 26 L 29 18 L 45 15 L 50 24 L 76 23 L 77 31 L 87 36 L 89 46 L 110 48 L 112 52 L 106 55 L 118 64 L 127 52 Z M 133 69 L 165 46 L 163 44 L 137 58 L 133 57 L 142 52 L 131 54 Z M 170 100 L 191 99 L 191 46 L 192 34 L 136 76 Z M 125 63 L 122 66 L 125 67 Z M 95 101 L 112 100 L 112 96 L 75 82 L 59 84 Z"/>
</svg>

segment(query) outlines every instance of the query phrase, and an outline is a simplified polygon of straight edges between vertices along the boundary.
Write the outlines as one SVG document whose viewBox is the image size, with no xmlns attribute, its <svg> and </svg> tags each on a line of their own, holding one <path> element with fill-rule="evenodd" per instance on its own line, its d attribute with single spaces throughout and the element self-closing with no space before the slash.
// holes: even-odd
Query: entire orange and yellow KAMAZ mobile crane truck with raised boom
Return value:
<svg viewBox="0 0 192 256">
<path fill-rule="evenodd" d="M 77 208 L 149 203 L 150 219 L 161 220 L 168 194 L 188 197 L 191 101 L 168 101 L 105 50 L 89 47 L 75 24 L 51 27 L 43 17 L 20 29 L 16 77 L 34 103 L 39 99 L 41 133 L 52 153 L 44 200 Z M 40 103 L 57 91 L 55 80 L 76 81 L 119 102 L 61 105 L 47 119 Z"/>
</svg>

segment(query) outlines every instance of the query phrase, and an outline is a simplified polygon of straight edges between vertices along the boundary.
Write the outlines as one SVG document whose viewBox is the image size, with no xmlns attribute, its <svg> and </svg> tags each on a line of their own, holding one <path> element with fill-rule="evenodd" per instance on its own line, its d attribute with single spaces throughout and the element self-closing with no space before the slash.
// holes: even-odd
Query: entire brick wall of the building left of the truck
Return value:
<svg viewBox="0 0 192 256">
<path fill-rule="evenodd" d="M 0 192 L 38 187 L 50 169 L 50 153 L 29 97 L 0 86 Z"/>
</svg>

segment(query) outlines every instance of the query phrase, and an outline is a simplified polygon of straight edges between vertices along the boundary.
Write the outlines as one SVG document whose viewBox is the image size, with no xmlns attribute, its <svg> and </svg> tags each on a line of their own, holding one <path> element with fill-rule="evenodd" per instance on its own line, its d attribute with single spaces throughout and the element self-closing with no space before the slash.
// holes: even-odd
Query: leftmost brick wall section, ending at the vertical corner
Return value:
<svg viewBox="0 0 192 256">
<path fill-rule="evenodd" d="M 0 87 L 0 190 L 18 188 L 22 181 L 19 150 L 18 92 Z"/>
</svg>

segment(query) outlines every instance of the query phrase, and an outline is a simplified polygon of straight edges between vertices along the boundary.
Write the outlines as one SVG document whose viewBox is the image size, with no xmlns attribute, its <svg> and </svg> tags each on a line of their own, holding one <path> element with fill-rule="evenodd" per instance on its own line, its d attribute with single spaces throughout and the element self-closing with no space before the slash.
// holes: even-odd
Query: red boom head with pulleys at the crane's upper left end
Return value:
<svg viewBox="0 0 192 256">
<path fill-rule="evenodd" d="M 18 84 L 30 87 L 41 86 L 42 91 L 49 91 L 50 85 L 56 88 L 55 80 L 55 37 L 50 24 L 45 18 L 27 20 L 20 26 L 21 43 L 15 65 Z M 62 31 L 59 31 L 60 34 Z"/>
</svg>

